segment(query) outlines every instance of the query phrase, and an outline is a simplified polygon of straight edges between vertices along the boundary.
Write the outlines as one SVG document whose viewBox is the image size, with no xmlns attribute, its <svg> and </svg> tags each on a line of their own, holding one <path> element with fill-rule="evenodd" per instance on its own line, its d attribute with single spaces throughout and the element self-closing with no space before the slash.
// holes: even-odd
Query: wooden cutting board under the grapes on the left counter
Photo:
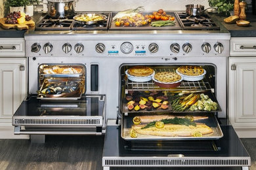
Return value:
<svg viewBox="0 0 256 170">
<path fill-rule="evenodd" d="M 28 27 L 35 26 L 35 22 L 33 22 L 32 20 L 26 21 L 23 24 L 5 24 L 5 20 L 6 18 L 0 18 L 0 26 L 3 29 L 16 28 L 18 30 L 22 30 L 22 29 L 28 29 Z"/>
</svg>

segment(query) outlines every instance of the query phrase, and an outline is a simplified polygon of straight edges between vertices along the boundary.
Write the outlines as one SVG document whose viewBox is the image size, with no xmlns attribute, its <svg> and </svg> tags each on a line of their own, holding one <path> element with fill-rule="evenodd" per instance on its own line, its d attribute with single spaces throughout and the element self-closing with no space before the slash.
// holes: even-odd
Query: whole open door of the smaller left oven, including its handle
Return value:
<svg viewBox="0 0 256 170">
<path fill-rule="evenodd" d="M 12 116 L 14 134 L 101 135 L 106 126 L 105 105 L 105 95 L 53 101 L 32 95 Z"/>
</svg>

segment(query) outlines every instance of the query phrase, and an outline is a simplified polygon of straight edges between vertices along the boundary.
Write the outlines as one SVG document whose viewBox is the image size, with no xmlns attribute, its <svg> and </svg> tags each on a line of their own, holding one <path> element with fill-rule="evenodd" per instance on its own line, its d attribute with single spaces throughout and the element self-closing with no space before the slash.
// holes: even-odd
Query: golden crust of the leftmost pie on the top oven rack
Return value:
<svg viewBox="0 0 256 170">
<path fill-rule="evenodd" d="M 150 76 L 154 73 L 154 70 L 150 67 L 135 66 L 128 69 L 127 73 L 132 76 Z"/>
</svg>

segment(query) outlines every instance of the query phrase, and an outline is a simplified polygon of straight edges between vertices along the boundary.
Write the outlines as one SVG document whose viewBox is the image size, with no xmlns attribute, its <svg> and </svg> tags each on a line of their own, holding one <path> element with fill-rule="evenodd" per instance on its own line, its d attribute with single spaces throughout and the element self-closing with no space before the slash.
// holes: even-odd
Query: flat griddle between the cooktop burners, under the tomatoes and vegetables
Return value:
<svg viewBox="0 0 256 170">
<path fill-rule="evenodd" d="M 142 26 L 116 26 L 116 20 L 113 20 L 113 17 L 116 16 L 117 12 L 112 13 L 112 19 L 110 21 L 110 30 L 158 30 L 158 29 L 171 29 L 171 30 L 177 30 L 181 29 L 181 25 L 179 24 L 179 21 L 177 20 L 177 16 L 175 15 L 174 12 L 166 12 L 166 14 L 171 15 L 175 18 L 175 24 L 174 25 L 165 25 L 162 27 L 153 27 L 151 23 L 148 23 L 146 25 Z M 143 16 L 150 15 L 152 12 L 141 12 Z M 157 20 L 153 19 L 152 22 L 156 22 Z"/>
</svg>

